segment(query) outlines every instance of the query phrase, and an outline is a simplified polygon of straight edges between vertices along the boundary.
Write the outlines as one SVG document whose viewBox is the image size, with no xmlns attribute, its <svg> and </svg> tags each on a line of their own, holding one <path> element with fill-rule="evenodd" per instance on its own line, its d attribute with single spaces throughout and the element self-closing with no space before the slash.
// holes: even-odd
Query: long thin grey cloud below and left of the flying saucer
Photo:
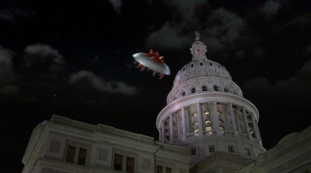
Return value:
<svg viewBox="0 0 311 173">
<path fill-rule="evenodd" d="M 134 95 L 137 93 L 136 87 L 129 86 L 123 81 L 106 81 L 91 71 L 81 70 L 69 77 L 69 83 L 71 84 L 76 84 L 81 80 L 89 82 L 94 89 L 103 93 L 119 93 L 124 95 Z"/>
</svg>

